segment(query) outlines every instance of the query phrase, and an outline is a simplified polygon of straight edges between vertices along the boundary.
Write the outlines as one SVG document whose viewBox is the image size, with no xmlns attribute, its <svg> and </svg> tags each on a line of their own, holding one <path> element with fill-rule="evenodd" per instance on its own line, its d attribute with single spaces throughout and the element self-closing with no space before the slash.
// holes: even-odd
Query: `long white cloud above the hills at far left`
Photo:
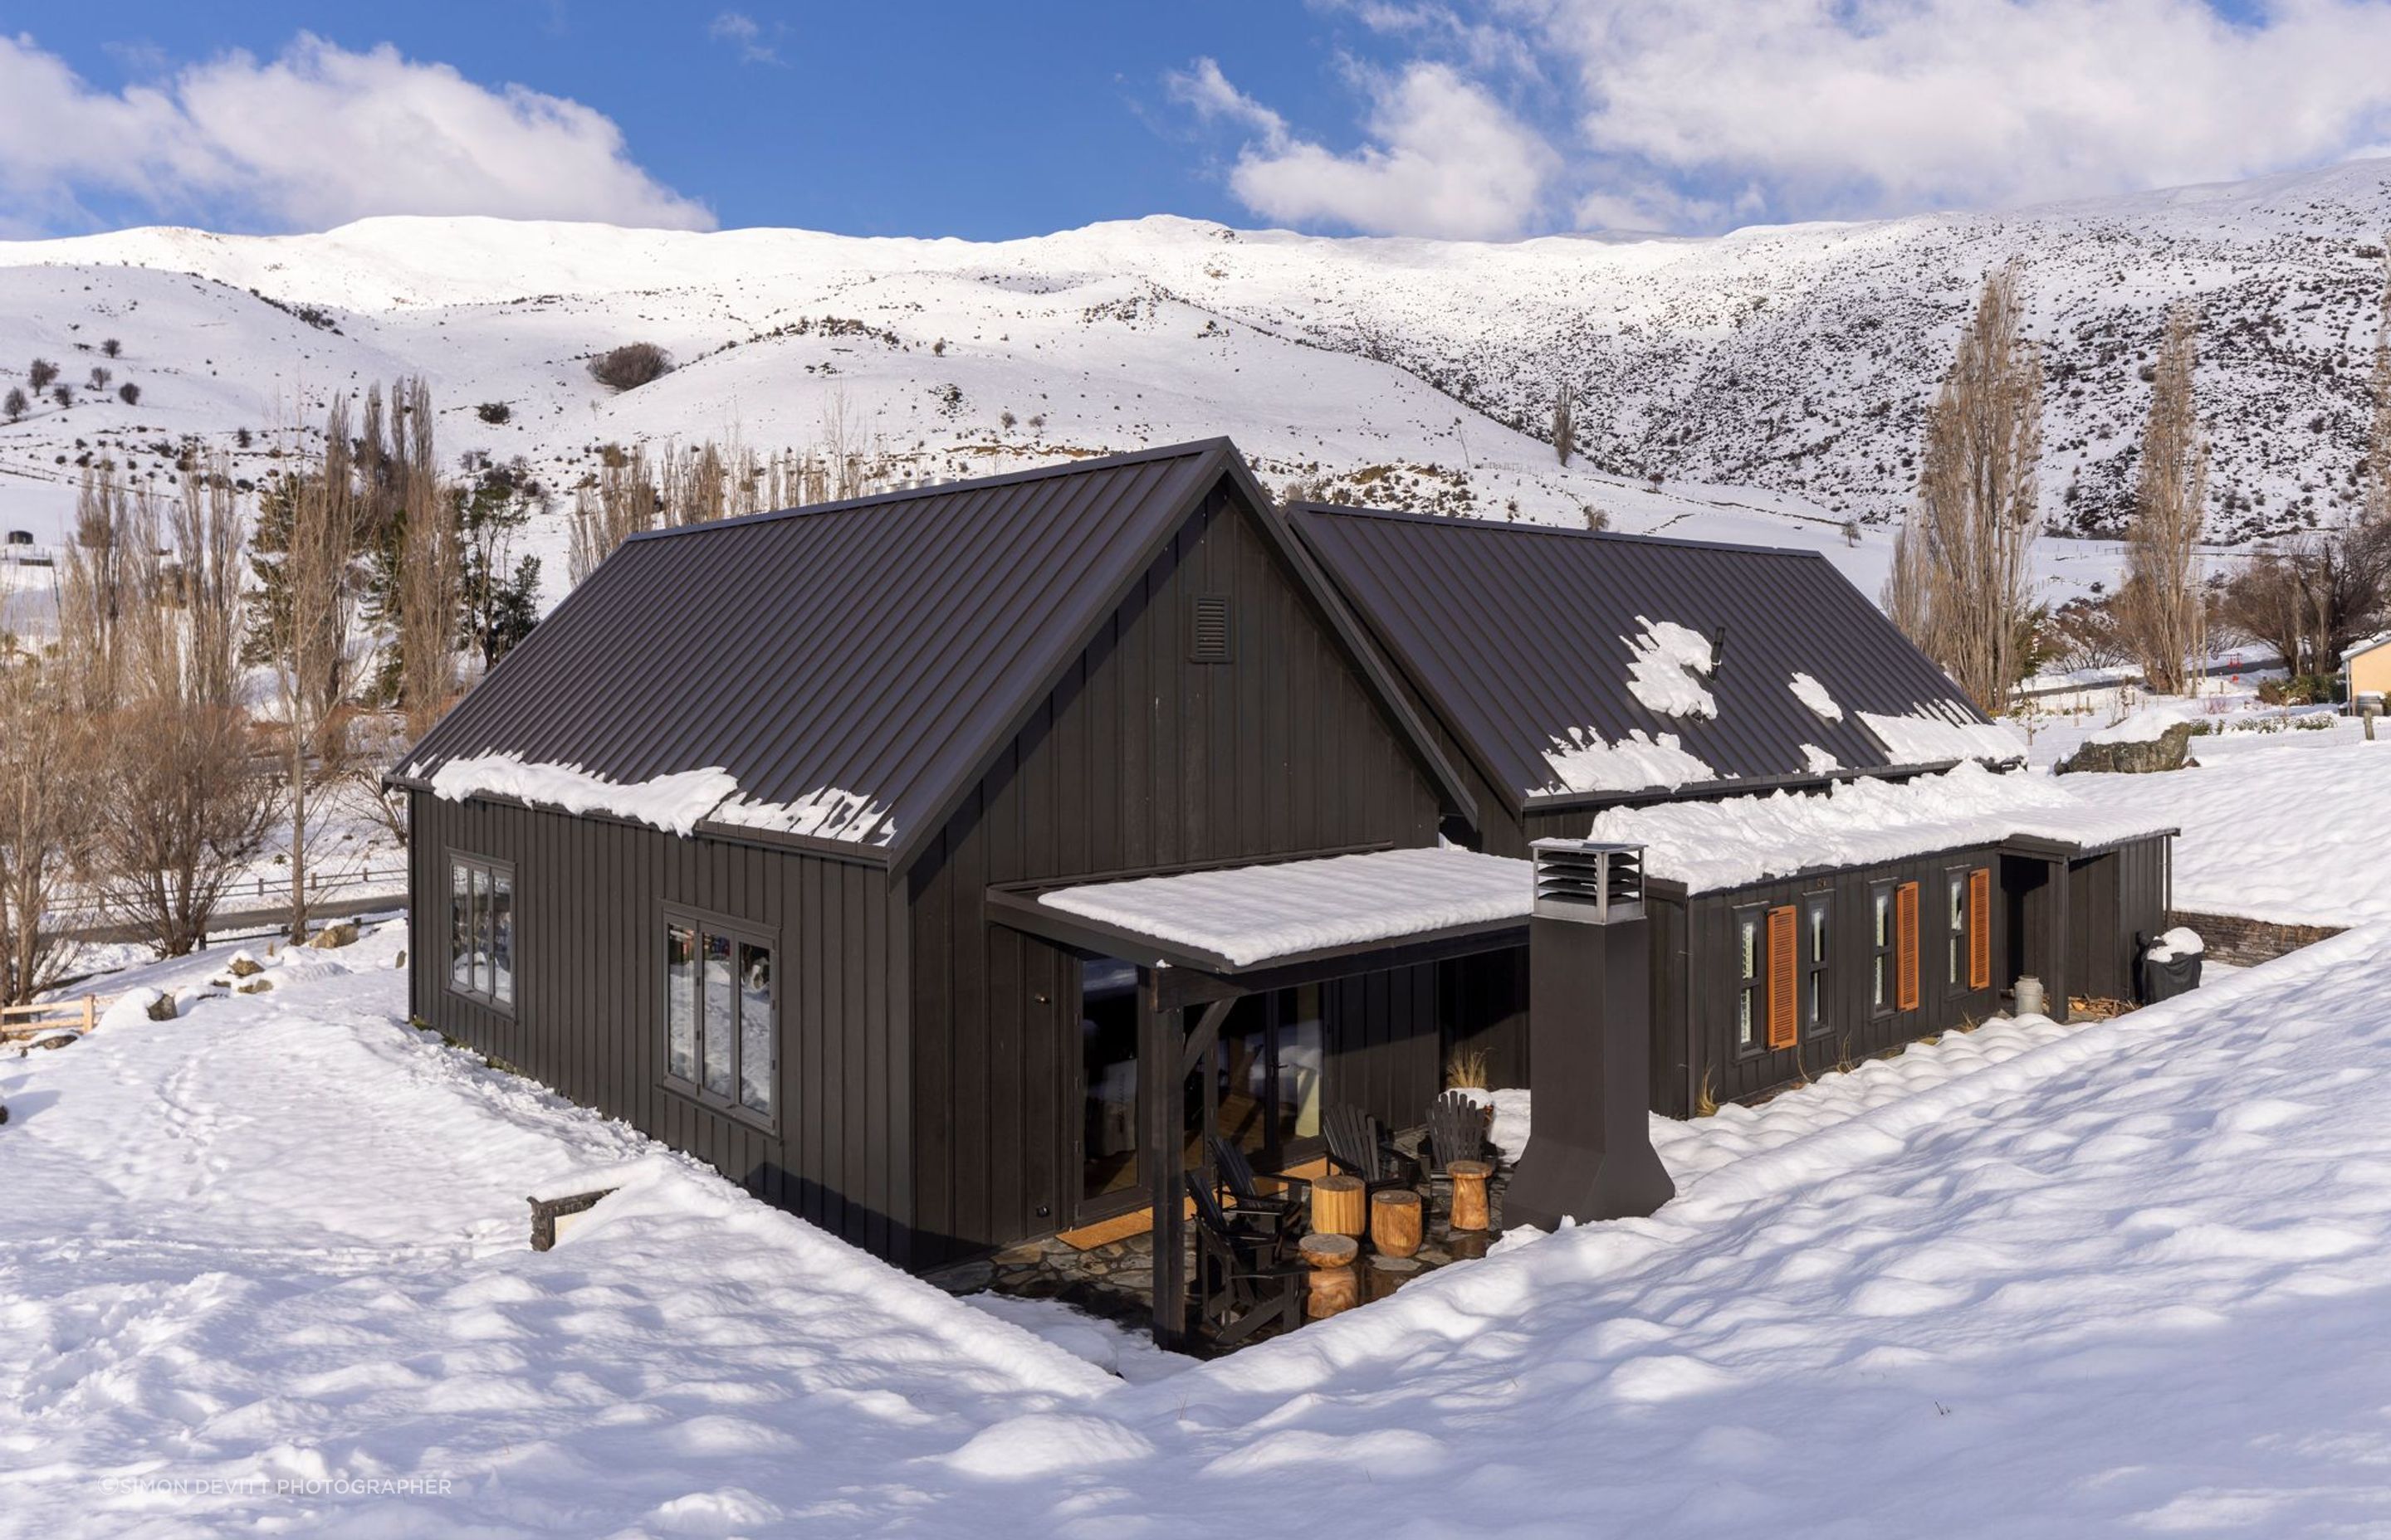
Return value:
<svg viewBox="0 0 2391 1540">
<path fill-rule="evenodd" d="M 378 213 L 715 225 L 643 172 L 603 112 L 390 45 L 301 33 L 275 60 L 227 53 L 108 93 L 33 38 L 0 36 L 0 220 L 88 222 L 88 198 L 282 230 Z"/>
</svg>

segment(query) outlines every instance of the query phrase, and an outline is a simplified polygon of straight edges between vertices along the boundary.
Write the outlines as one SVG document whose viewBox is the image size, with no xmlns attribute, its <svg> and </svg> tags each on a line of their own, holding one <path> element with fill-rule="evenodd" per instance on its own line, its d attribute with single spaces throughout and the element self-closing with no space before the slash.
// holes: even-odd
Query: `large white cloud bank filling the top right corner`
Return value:
<svg viewBox="0 0 2391 1540">
<path fill-rule="evenodd" d="M 1547 0 L 1535 33 L 1588 182 L 1750 182 L 1769 218 L 2245 177 L 2391 127 L 2391 7 L 2360 0 Z"/>
</svg>

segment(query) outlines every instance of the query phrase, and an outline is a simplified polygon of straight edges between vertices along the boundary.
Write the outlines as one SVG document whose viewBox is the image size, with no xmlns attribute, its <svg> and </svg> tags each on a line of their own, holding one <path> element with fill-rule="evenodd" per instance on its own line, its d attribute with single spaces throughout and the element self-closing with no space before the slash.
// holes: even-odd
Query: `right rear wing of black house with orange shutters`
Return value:
<svg viewBox="0 0 2391 1540">
<path fill-rule="evenodd" d="M 1289 521 L 1463 768 L 1494 854 L 1583 837 L 1607 808 L 1729 796 L 1738 818 L 1719 837 L 1760 844 L 1774 825 L 1762 794 L 2016 753 L 1810 550 L 1317 505 Z M 1710 715 L 1655 710 L 1631 686 L 1655 622 L 1710 643 Z M 1667 734 L 1690 760 L 1650 784 L 1650 756 L 1609 772 L 1571 753 L 1571 727 L 1604 744 Z M 2071 995 L 2133 1000 L 2135 937 L 2166 930 L 2171 830 L 2083 813 L 2004 823 L 1920 818 L 1882 842 L 1898 854 L 1867 863 L 1796 835 L 1777 861 L 1788 875 L 1700 890 L 1655 854 L 1652 1110 L 1693 1117 L 1705 1095 L 1748 1098 L 1985 1021 L 2018 976 L 2044 983 L 2059 1019 Z M 1638 820 L 1612 825 L 1597 837 L 1633 837 Z M 1449 1019 L 1497 1083 L 1530 1081 L 1525 964 L 1492 954 L 1449 980 Z"/>
</svg>

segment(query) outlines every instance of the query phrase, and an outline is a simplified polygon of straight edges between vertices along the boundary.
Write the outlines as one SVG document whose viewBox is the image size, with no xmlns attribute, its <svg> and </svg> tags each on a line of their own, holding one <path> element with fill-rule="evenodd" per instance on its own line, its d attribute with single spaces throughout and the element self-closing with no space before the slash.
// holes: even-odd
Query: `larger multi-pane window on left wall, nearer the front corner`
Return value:
<svg viewBox="0 0 2391 1540">
<path fill-rule="evenodd" d="M 770 1122 L 777 1071 L 772 940 L 667 913 L 665 1078 L 701 1102 Z"/>
</svg>

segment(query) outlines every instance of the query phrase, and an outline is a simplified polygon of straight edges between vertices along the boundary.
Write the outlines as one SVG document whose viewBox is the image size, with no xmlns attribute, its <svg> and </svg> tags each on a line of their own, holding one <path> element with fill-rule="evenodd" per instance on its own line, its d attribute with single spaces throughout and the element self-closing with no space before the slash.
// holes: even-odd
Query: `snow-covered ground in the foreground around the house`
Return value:
<svg viewBox="0 0 2391 1540">
<path fill-rule="evenodd" d="M 2391 1518 L 2384 933 L 1829 1076 L 1681 1138 L 1652 1220 L 1129 1380 L 406 1028 L 402 940 L 0 1067 L 0 1530 Z M 533 1255 L 576 1172 L 626 1186 Z"/>
</svg>

